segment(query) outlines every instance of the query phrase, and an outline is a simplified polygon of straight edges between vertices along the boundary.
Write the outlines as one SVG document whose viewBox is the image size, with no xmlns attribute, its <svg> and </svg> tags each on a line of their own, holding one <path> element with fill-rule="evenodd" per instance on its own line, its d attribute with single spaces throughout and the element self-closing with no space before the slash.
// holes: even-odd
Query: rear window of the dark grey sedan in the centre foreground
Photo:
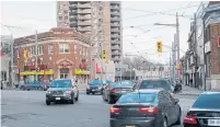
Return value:
<svg viewBox="0 0 220 127">
<path fill-rule="evenodd" d="M 155 96 L 155 93 L 129 93 L 123 95 L 117 103 L 152 103 Z"/>
</svg>

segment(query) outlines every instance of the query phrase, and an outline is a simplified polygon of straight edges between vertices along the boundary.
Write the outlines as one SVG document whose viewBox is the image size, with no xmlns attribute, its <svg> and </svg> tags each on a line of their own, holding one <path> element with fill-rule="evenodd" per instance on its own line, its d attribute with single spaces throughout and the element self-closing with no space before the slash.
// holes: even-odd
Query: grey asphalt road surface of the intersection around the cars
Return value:
<svg viewBox="0 0 220 127">
<path fill-rule="evenodd" d="M 183 114 L 195 96 L 176 95 Z M 76 104 L 45 104 L 43 91 L 1 91 L 2 127 L 109 127 L 109 106 L 101 95 L 80 94 Z M 173 126 L 182 127 L 182 126 Z"/>
</svg>

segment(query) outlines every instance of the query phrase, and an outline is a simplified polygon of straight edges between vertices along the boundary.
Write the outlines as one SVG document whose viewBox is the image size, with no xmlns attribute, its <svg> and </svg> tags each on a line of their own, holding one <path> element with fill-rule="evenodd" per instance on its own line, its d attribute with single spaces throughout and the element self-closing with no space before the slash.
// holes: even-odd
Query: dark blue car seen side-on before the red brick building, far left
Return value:
<svg viewBox="0 0 220 127">
<path fill-rule="evenodd" d="M 30 91 L 30 90 L 45 90 L 45 83 L 44 82 L 42 82 L 42 81 L 32 81 L 32 82 L 28 82 L 28 83 L 25 83 L 25 84 L 22 84 L 21 86 L 20 86 L 20 90 L 23 90 L 23 91 L 25 91 L 25 90 L 27 90 L 27 91 Z"/>
</svg>

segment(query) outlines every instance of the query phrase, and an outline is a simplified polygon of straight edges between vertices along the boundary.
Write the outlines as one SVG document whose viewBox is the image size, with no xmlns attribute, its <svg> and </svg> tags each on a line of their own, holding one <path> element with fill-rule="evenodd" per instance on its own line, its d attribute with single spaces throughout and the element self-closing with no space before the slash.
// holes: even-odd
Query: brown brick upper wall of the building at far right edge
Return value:
<svg viewBox="0 0 220 127">
<path fill-rule="evenodd" d="M 210 24 L 211 74 L 220 74 L 220 48 L 218 47 L 219 36 L 220 23 Z"/>
</svg>

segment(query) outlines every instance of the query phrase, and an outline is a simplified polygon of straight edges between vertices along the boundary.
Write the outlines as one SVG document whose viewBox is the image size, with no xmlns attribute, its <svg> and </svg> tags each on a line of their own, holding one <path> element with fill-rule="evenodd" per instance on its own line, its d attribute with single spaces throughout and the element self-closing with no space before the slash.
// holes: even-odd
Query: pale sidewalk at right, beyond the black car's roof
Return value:
<svg viewBox="0 0 220 127">
<path fill-rule="evenodd" d="M 199 96 L 201 93 L 205 91 L 196 89 L 196 88 L 190 88 L 188 85 L 183 84 L 182 85 L 182 91 L 178 93 L 180 95 L 194 95 L 194 96 Z"/>
</svg>

